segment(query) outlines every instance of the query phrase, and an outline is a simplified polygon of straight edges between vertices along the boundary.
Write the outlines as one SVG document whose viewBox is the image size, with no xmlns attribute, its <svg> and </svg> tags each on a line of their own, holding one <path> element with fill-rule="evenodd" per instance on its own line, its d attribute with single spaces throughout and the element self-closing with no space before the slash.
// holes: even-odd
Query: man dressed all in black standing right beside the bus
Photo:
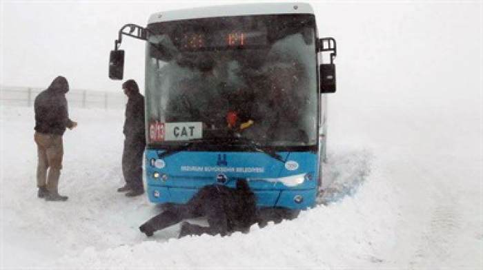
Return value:
<svg viewBox="0 0 483 270">
<path fill-rule="evenodd" d="M 128 96 L 123 130 L 124 152 L 122 154 L 122 172 L 126 185 L 117 191 L 128 191 L 126 196 L 134 197 L 144 194 L 142 169 L 144 147 L 146 147 L 144 96 L 139 93 L 139 87 L 134 80 L 124 82 L 122 89 Z"/>
</svg>

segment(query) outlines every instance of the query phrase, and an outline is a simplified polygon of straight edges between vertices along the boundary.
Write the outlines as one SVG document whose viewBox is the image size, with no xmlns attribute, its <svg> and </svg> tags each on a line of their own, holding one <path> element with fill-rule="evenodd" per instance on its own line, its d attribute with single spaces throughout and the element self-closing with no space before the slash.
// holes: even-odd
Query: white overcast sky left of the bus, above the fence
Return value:
<svg viewBox="0 0 483 270">
<path fill-rule="evenodd" d="M 72 88 L 117 90 L 108 57 L 124 24 L 146 26 L 164 10 L 248 2 L 259 1 L 1 1 L 1 83 L 46 87 L 62 74 Z M 124 37 L 121 49 L 124 78 L 144 85 L 145 43 Z"/>
</svg>

